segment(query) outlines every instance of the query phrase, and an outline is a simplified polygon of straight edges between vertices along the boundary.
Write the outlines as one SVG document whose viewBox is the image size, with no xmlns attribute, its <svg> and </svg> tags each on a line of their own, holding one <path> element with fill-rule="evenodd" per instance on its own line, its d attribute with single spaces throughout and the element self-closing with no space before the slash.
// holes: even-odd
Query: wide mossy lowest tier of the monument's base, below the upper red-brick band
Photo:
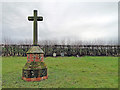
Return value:
<svg viewBox="0 0 120 90">
<path fill-rule="evenodd" d="M 23 72 L 22 79 L 25 81 L 40 81 L 48 78 L 47 66 L 44 62 L 31 62 L 26 63 Z"/>
</svg>

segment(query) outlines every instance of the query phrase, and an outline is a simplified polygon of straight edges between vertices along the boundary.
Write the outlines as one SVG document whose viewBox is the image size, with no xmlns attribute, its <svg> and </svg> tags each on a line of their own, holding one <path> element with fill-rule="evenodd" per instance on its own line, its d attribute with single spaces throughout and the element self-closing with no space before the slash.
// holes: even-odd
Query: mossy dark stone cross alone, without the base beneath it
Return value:
<svg viewBox="0 0 120 90">
<path fill-rule="evenodd" d="M 43 17 L 37 16 L 37 10 L 34 10 L 34 16 L 29 16 L 28 20 L 33 21 L 33 45 L 37 45 L 38 42 L 37 21 L 43 21 Z"/>
</svg>

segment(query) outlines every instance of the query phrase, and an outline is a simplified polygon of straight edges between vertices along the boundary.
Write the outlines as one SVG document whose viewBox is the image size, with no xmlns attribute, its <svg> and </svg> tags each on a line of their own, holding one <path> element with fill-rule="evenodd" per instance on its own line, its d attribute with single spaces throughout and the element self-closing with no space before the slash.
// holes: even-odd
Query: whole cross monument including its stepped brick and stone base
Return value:
<svg viewBox="0 0 120 90">
<path fill-rule="evenodd" d="M 37 45 L 37 21 L 42 21 L 43 17 L 37 16 L 37 10 L 34 10 L 34 16 L 28 17 L 33 21 L 33 46 L 27 52 L 27 63 L 23 67 L 22 79 L 25 81 L 40 81 L 48 78 L 47 66 L 44 62 L 44 52 Z"/>
</svg>

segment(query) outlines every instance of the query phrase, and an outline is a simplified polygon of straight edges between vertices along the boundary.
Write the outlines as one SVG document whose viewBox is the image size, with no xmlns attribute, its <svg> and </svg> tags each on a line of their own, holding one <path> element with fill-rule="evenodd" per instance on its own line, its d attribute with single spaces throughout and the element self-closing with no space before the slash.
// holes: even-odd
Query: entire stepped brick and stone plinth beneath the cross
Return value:
<svg viewBox="0 0 120 90">
<path fill-rule="evenodd" d="M 40 81 L 47 78 L 44 52 L 39 46 L 33 46 L 27 52 L 27 63 L 23 68 L 22 79 L 25 81 Z"/>
</svg>

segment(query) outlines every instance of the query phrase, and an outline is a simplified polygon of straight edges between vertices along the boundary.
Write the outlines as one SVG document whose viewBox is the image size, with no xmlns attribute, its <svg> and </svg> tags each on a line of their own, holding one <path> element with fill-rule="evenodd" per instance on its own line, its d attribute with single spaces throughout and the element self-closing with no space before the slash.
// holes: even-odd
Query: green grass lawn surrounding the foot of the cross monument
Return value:
<svg viewBox="0 0 120 90">
<path fill-rule="evenodd" d="M 117 88 L 117 57 L 47 57 L 48 79 L 21 79 L 26 57 L 2 58 L 3 88 Z"/>
</svg>

